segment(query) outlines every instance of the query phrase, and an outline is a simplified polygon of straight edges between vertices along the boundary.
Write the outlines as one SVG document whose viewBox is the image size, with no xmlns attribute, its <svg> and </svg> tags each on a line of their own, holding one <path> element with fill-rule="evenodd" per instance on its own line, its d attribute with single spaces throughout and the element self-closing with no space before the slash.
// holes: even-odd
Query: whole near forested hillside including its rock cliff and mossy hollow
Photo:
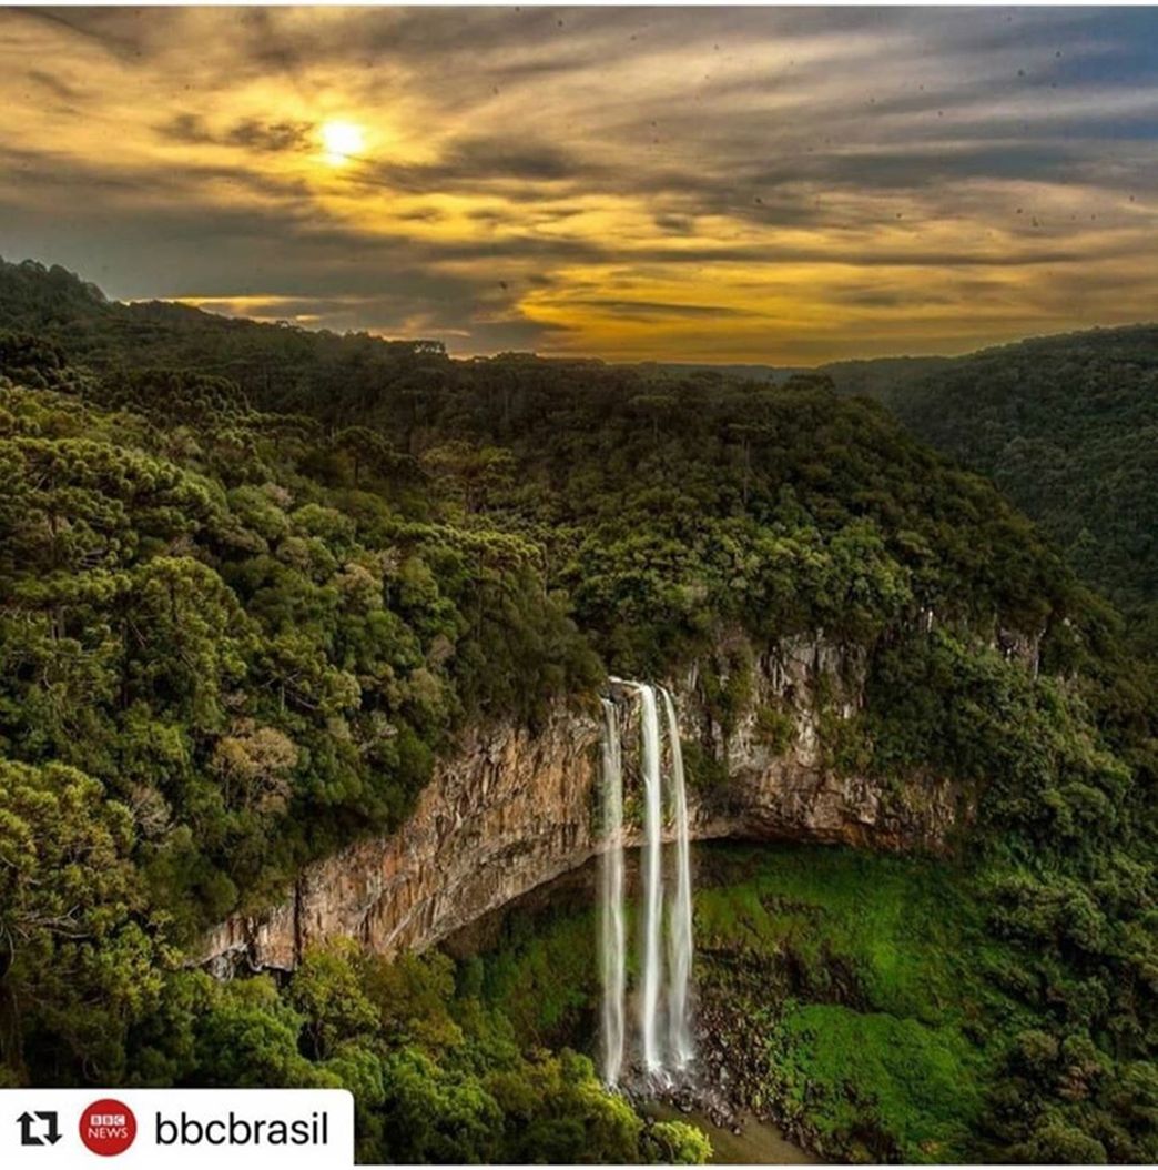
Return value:
<svg viewBox="0 0 1158 1170">
<path fill-rule="evenodd" d="M 0 1082 L 347 1087 L 367 1162 L 714 1156 L 601 1055 L 616 700 L 623 1016 L 633 853 L 686 842 L 692 945 L 645 951 L 694 954 L 701 1114 L 1153 1152 L 1138 619 L 880 404 L 703 374 L 0 268 Z"/>
</svg>

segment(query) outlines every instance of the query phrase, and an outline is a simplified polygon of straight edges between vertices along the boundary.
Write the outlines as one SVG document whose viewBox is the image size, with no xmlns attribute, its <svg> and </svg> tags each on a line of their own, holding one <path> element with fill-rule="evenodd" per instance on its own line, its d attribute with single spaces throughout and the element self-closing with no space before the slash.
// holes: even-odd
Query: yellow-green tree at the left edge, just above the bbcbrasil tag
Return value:
<svg viewBox="0 0 1158 1170">
<path fill-rule="evenodd" d="M 62 764 L 0 759 L 0 1057 L 82 1065 L 115 1081 L 129 1025 L 161 990 L 159 948 L 130 860 L 129 810 Z"/>
</svg>

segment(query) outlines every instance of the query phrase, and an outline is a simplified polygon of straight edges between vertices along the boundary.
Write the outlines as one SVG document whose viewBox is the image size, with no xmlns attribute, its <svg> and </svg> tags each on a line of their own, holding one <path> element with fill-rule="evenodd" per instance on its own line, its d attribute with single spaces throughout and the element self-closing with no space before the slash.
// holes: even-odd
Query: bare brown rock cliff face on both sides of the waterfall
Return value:
<svg viewBox="0 0 1158 1170">
<path fill-rule="evenodd" d="M 714 667 L 714 680 L 721 676 L 727 668 Z M 755 661 L 746 677 L 727 725 L 696 672 L 673 686 L 685 742 L 727 776 L 689 792 L 696 839 L 937 849 L 970 815 L 949 782 L 909 778 L 885 791 L 825 766 L 817 695 L 823 687 L 828 718 L 848 717 L 861 701 L 855 656 L 796 639 Z M 769 711 L 778 713 L 775 736 Z M 636 727 L 626 707 L 625 715 L 630 786 Z M 598 847 L 599 731 L 592 714 L 562 707 L 535 735 L 509 725 L 472 730 L 436 766 L 402 828 L 308 867 L 262 915 L 222 923 L 199 961 L 222 976 L 237 966 L 290 970 L 305 948 L 341 935 L 386 955 L 421 950 L 582 865 Z M 638 844 L 637 828 L 629 840 Z"/>
</svg>

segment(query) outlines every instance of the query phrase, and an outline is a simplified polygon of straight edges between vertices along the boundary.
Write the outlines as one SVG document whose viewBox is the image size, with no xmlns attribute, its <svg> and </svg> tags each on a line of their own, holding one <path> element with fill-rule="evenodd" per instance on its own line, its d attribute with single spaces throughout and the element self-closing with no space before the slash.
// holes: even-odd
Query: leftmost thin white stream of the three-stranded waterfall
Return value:
<svg viewBox="0 0 1158 1170">
<path fill-rule="evenodd" d="M 615 1086 L 623 1066 L 625 944 L 623 928 L 623 760 L 619 716 L 603 700 L 603 833 L 599 866 L 601 968 L 603 973 L 603 1080 Z"/>
</svg>

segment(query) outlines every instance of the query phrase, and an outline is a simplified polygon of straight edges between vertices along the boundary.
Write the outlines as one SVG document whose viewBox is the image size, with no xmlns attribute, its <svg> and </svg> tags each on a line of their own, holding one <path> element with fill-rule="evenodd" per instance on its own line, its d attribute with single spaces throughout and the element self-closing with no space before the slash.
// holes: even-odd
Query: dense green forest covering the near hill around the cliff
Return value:
<svg viewBox="0 0 1158 1170">
<path fill-rule="evenodd" d="M 368 1159 L 701 1159 L 582 1035 L 528 1044 L 478 964 L 334 948 L 276 986 L 182 958 L 396 827 L 463 727 L 693 660 L 726 722 L 723 632 L 823 629 L 869 663 L 832 766 L 978 793 L 938 865 L 991 1035 L 924 1156 L 1158 1156 L 1153 663 L 986 480 L 823 377 L 455 362 L 29 263 L 0 330 L 0 1081 L 346 1085 Z M 872 1113 L 838 1152 L 916 1156 L 878 1074 L 848 1097 L 823 1061 L 762 1092 Z"/>
</svg>

